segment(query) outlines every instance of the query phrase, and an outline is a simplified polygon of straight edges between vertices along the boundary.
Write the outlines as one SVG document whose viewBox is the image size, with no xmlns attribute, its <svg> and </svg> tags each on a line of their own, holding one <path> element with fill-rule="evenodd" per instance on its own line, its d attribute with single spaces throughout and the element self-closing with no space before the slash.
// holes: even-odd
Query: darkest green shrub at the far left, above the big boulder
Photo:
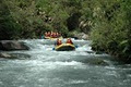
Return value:
<svg viewBox="0 0 131 87">
<path fill-rule="evenodd" d="M 16 38 L 22 29 L 22 26 L 11 16 L 5 1 L 0 4 L 0 40 Z"/>
</svg>

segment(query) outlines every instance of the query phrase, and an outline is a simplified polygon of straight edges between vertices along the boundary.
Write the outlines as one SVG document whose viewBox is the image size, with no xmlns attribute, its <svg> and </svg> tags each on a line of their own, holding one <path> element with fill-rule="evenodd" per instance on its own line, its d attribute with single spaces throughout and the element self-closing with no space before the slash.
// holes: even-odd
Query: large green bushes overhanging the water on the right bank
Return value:
<svg viewBox="0 0 131 87">
<path fill-rule="evenodd" d="M 93 47 L 130 62 L 131 1 L 105 0 L 98 4 L 91 33 Z"/>
</svg>

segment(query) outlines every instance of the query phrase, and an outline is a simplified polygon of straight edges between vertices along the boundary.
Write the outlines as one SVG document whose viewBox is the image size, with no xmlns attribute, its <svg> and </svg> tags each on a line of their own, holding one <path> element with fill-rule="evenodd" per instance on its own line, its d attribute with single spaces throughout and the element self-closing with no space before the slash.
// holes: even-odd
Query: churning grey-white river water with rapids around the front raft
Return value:
<svg viewBox="0 0 131 87">
<path fill-rule="evenodd" d="M 121 64 L 108 54 L 96 54 L 88 40 L 73 40 L 75 51 L 55 51 L 53 40 L 23 40 L 28 58 L 0 59 L 0 87 L 131 87 L 131 64 Z M 5 51 L 4 51 L 5 52 Z M 108 65 L 90 62 L 102 59 Z"/>
</svg>

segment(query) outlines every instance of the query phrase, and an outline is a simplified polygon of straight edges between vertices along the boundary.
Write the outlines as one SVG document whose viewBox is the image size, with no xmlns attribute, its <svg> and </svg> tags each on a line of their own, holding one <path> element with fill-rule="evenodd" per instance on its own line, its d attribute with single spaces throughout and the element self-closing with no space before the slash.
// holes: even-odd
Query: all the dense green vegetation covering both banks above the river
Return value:
<svg viewBox="0 0 131 87">
<path fill-rule="evenodd" d="M 84 32 L 93 49 L 131 60 L 131 0 L 0 0 L 0 39 Z"/>
</svg>

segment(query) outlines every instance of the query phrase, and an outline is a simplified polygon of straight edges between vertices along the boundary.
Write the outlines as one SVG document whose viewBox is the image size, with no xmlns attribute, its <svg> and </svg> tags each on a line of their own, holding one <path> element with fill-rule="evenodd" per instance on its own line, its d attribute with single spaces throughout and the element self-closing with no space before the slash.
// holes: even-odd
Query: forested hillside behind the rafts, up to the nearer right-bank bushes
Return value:
<svg viewBox="0 0 131 87">
<path fill-rule="evenodd" d="M 84 0 L 83 0 L 84 1 Z M 13 30 L 2 27 L 0 39 L 13 38 L 38 38 L 38 36 L 47 30 L 58 30 L 63 36 L 72 36 L 74 33 L 87 33 L 91 28 L 92 16 L 90 9 L 82 0 L 1 0 L 1 15 L 8 12 L 1 18 L 8 18 L 11 23 L 4 22 L 0 26 L 11 24 Z M 87 2 L 91 4 L 91 2 Z M 84 5 L 84 7 L 83 7 Z M 5 7 L 5 8 L 3 8 Z M 84 12 L 86 11 L 86 12 Z M 84 15 L 85 14 L 85 15 Z M 3 21 L 1 20 L 1 21 Z M 4 34 L 11 32 L 13 35 L 5 37 Z M 4 38 L 3 38 L 4 37 Z"/>
</svg>

